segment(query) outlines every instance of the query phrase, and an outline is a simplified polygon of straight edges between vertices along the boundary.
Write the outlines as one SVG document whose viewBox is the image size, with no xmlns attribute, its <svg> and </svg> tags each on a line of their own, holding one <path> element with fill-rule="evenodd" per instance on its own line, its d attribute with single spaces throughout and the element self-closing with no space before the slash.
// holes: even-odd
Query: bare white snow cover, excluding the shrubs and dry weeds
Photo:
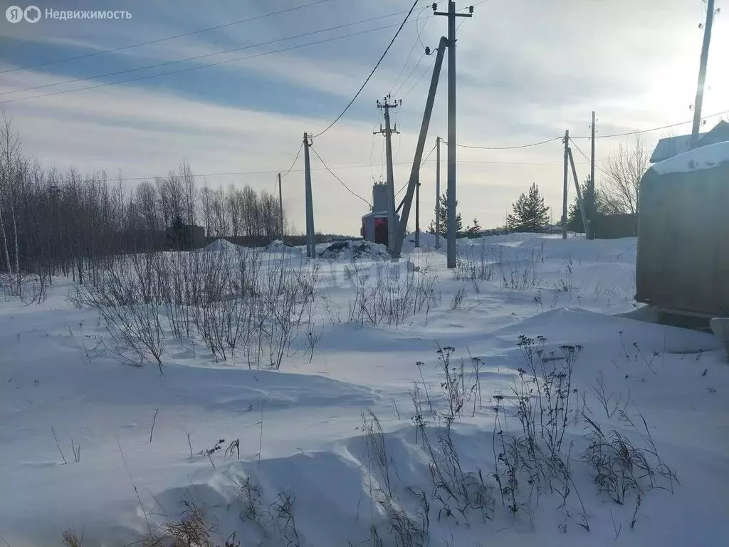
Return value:
<svg viewBox="0 0 729 547">
<path fill-rule="evenodd" d="M 488 281 L 453 279 L 442 244 L 440 252 L 408 247 L 407 261 L 398 265 L 368 260 L 354 265 L 349 255 L 322 261 L 316 317 L 321 341 L 311 363 L 299 342 L 281 371 L 248 370 L 235 358 L 216 365 L 209 354 L 174 343 L 164 376 L 156 366 L 121 366 L 99 345 L 106 331 L 98 314 L 75 309 L 66 300 L 71 283 L 63 279 L 53 284 L 45 303 L 0 303 L 4 542 L 61 545 L 61 532 L 71 528 L 84 532 L 84 545 L 126 545 L 179 519 L 180 503 L 187 501 L 214 526 L 215 545 L 234 531 L 241 545 L 375 545 L 372 524 L 383 545 L 396 545 L 373 502 L 373 474 L 379 483 L 383 477 L 362 437 L 362 411 L 370 409 L 382 424 L 394 498 L 415 519 L 417 505 L 408 489 L 430 492 L 433 479 L 411 421 L 413 382 L 419 389 L 425 385 L 442 409 L 447 403 L 437 344 L 455 348 L 454 362 L 469 354 L 480 358 L 483 404 L 469 400 L 452 435 L 461 468 L 483 470 L 486 478 L 494 472 L 494 406 L 499 396 L 510 396 L 524 366 L 517 340 L 526 335 L 544 336 L 548 351 L 581 344 L 572 385 L 586 394 L 588 408 L 582 410 L 604 427 L 629 432 L 615 417 L 604 416 L 588 384 L 601 376 L 616 399 L 631 397 L 680 484 L 673 495 L 647 492 L 631 529 L 634 503 L 617 505 L 599 494 L 589 469 L 577 462 L 585 428 L 580 420 L 569 425 L 566 436 L 575 443 L 574 486 L 590 532 L 565 521 L 553 497 L 534 504 L 531 517 L 513 518 L 497 489 L 494 516 L 486 523 L 471 515 L 469 525 L 463 519 L 456 524 L 456 517 L 443 516 L 431 500 L 428 544 L 729 543 L 729 366 L 711 335 L 631 318 L 638 307 L 635 239 L 510 234 L 459 241 L 461 274 L 488 271 Z M 311 265 L 298 254 L 296 260 Z M 410 263 L 415 267 L 408 268 Z M 357 279 L 391 281 L 413 269 L 416 276 L 437 276 L 436 303 L 427 313 L 397 328 L 346 322 Z M 341 322 L 324 313 L 324 301 L 339 311 Z M 416 362 L 424 364 L 418 368 Z M 443 430 L 436 419 L 430 422 Z M 434 442 L 436 432 L 429 431 Z M 223 449 L 210 458 L 198 455 L 219 439 L 225 439 Z M 223 454 L 235 439 L 240 460 Z M 79 462 L 71 441 L 80 446 Z M 295 534 L 285 519 L 281 535 L 270 530 L 265 535 L 263 526 L 241 520 L 255 505 L 241 494 L 246 478 L 260 492 L 260 511 L 276 513 L 278 495 L 292 494 Z"/>
</svg>

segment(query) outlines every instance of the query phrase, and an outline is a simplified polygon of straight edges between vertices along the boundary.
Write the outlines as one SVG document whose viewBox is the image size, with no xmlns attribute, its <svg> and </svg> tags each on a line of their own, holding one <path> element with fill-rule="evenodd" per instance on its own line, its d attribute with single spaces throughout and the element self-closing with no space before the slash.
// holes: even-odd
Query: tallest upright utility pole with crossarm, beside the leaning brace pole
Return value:
<svg viewBox="0 0 729 547">
<path fill-rule="evenodd" d="M 456 18 L 472 17 L 473 6 L 468 13 L 456 13 L 456 2 L 448 0 L 448 12 L 434 15 L 448 17 L 448 268 L 456 267 Z"/>
</svg>

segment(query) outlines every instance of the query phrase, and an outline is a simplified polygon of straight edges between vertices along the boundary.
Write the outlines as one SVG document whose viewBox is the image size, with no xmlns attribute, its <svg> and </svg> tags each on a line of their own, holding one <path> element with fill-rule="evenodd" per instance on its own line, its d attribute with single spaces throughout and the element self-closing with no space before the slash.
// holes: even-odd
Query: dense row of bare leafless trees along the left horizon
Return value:
<svg viewBox="0 0 729 547">
<path fill-rule="evenodd" d="M 180 227 L 202 226 L 208 238 L 288 232 L 278 198 L 265 190 L 200 187 L 187 161 L 133 188 L 103 171 L 44 168 L 23 152 L 11 121 L 1 121 L 0 274 L 18 285 L 31 273 L 83 282 L 90 263 L 169 248 Z"/>
</svg>

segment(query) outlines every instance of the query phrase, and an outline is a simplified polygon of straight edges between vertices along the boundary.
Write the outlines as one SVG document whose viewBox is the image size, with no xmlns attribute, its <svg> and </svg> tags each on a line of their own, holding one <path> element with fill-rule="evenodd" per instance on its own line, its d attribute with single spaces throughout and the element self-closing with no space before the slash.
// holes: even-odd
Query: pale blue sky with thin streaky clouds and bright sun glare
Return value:
<svg viewBox="0 0 729 547">
<path fill-rule="evenodd" d="M 213 187 L 249 184 L 273 191 L 276 172 L 291 166 L 304 131 L 321 132 L 341 112 L 412 4 L 327 0 L 227 24 L 314 1 L 38 0 L 34 5 L 42 12 L 124 9 L 132 18 L 9 23 L 0 15 L 0 107 L 20 133 L 26 153 L 46 166 L 105 170 L 132 179 L 126 184 L 133 187 L 139 177 L 164 175 L 188 160 L 201 175 L 200 185 L 204 180 Z M 447 30 L 445 18 L 432 16 L 431 3 L 418 2 L 354 106 L 313 142 L 332 171 L 367 201 L 373 179 L 385 172 L 384 139 L 373 131 L 382 121 L 375 101 L 387 93 L 403 100 L 393 115 L 401 131 L 393 137 L 397 188 L 410 172 L 434 59 L 423 55 L 423 46 L 434 48 Z M 507 147 L 560 136 L 566 129 L 572 136 L 587 136 L 592 110 L 597 112 L 598 136 L 693 117 L 689 106 L 698 77 L 703 1 L 473 3 L 473 18 L 459 20 L 460 143 Z M 11 4 L 28 5 L 25 0 L 0 0 L 1 13 Z M 717 7 L 724 4 L 726 0 L 717 1 Z M 465 9 L 469 4 L 456 5 Z M 439 9 L 446 7 L 440 2 Z M 225 26 L 165 39 L 220 25 Z M 327 30 L 335 26 L 339 28 Z M 705 115 L 729 110 L 728 30 L 729 6 L 714 21 Z M 323 32 L 311 34 L 315 31 Z M 359 34 L 332 39 L 353 33 Z M 322 40 L 327 41 L 295 47 Z M 149 41 L 155 42 L 128 47 Z M 123 49 L 88 56 L 115 48 Z M 284 48 L 290 49 L 268 54 Z M 192 57 L 198 59 L 186 61 Z M 426 153 L 435 136 L 447 135 L 446 68 L 444 63 Z M 82 81 L 69 82 L 74 79 Z M 128 79 L 136 81 L 116 83 Z M 98 87 L 79 90 L 90 86 Z M 706 128 L 718 120 L 710 117 Z M 644 133 L 643 139 L 652 148 L 660 136 L 688 132 L 690 124 Z M 627 141 L 597 139 L 598 167 Z M 578 140 L 577 145 L 589 154 L 590 141 Z M 557 220 L 561 146 L 554 141 L 519 150 L 459 148 L 458 200 L 464 221 L 477 217 L 484 227 L 502 225 L 511 203 L 532 182 Z M 589 172 L 585 158 L 576 150 L 574 156 L 584 179 Z M 434 158 L 421 171 L 423 228 L 432 219 Z M 316 230 L 359 233 L 359 217 L 367 206 L 314 155 L 311 164 Z M 283 182 L 284 207 L 298 232 L 304 229 L 302 170 L 300 156 Z M 445 190 L 445 165 L 441 172 Z M 596 179 L 600 184 L 600 171 Z M 571 200 L 573 196 L 571 186 Z"/>
</svg>

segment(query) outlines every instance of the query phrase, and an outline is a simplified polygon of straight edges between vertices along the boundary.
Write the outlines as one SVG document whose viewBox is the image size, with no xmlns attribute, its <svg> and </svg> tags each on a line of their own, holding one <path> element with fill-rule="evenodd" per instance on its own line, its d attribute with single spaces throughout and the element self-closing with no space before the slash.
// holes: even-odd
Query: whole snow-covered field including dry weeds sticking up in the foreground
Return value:
<svg viewBox="0 0 729 547">
<path fill-rule="evenodd" d="M 0 545 L 729 545 L 729 365 L 637 319 L 635 239 L 423 239 L 260 249 L 257 311 L 159 306 L 160 365 L 69 279 L 4 298 Z"/>
</svg>

